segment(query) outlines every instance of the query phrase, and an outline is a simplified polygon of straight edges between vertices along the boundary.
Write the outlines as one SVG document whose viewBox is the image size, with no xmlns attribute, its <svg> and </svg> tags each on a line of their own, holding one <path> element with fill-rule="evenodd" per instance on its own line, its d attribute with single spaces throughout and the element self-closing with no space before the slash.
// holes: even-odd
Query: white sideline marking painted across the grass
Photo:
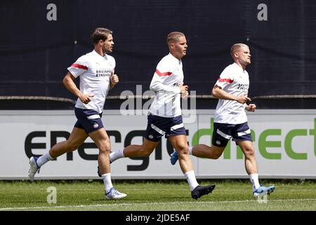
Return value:
<svg viewBox="0 0 316 225">
<path fill-rule="evenodd" d="M 276 199 L 269 200 L 269 202 L 288 202 L 288 201 L 314 201 L 316 198 L 299 198 L 299 199 Z M 11 207 L 11 208 L 0 208 L 0 211 L 4 210 L 41 210 L 41 209 L 62 209 L 68 207 L 112 207 L 121 205 L 177 205 L 177 204 L 213 204 L 213 203 L 256 203 L 257 200 L 236 200 L 236 201 L 208 201 L 208 202 L 173 202 L 173 203 L 114 203 L 114 204 L 97 204 L 97 205 L 58 205 L 58 206 L 37 206 L 37 207 Z"/>
</svg>

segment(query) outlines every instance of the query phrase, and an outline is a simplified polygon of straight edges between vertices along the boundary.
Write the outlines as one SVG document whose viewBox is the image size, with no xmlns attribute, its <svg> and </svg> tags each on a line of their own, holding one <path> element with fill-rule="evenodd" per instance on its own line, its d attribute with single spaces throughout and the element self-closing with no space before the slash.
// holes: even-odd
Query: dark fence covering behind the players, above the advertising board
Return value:
<svg viewBox="0 0 316 225">
<path fill-rule="evenodd" d="M 55 4 L 57 20 L 47 19 L 52 15 L 48 4 Z M 259 4 L 267 6 L 267 20 Z M 313 0 L 1 0 L 0 26 L 0 109 L 72 107 L 67 101 L 29 103 L 6 96 L 75 100 L 61 81 L 67 67 L 93 49 L 90 36 L 96 27 L 113 30 L 120 84 L 110 96 L 124 90 L 136 94 L 137 84 L 148 90 L 157 63 L 168 53 L 166 34 L 181 31 L 189 45 L 183 58 L 185 84 L 198 95 L 210 94 L 232 63 L 230 46 L 242 42 L 252 55 L 249 96 L 261 108 L 316 108 Z M 261 98 L 280 95 L 288 98 Z M 197 103 L 214 108 L 216 101 Z M 105 107 L 119 108 L 119 101 L 109 100 Z"/>
</svg>

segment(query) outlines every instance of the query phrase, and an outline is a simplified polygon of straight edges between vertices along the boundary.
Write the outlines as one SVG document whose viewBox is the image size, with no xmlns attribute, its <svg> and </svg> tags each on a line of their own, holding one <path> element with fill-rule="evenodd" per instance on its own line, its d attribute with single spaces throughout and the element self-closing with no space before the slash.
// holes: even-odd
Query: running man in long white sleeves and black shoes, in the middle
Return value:
<svg viewBox="0 0 316 225">
<path fill-rule="evenodd" d="M 158 146 L 162 136 L 165 136 L 179 155 L 180 168 L 190 186 L 192 198 L 197 199 L 211 193 L 215 185 L 199 186 L 188 154 L 189 146 L 180 108 L 180 97 L 186 96 L 188 89 L 188 86 L 183 84 L 181 61 L 187 53 L 185 34 L 171 32 L 167 36 L 167 44 L 170 53 L 158 63 L 150 83 L 150 90 L 155 91 L 156 96 L 150 105 L 143 145 L 131 145 L 110 153 L 110 160 L 114 162 L 124 157 L 149 156 Z"/>
</svg>

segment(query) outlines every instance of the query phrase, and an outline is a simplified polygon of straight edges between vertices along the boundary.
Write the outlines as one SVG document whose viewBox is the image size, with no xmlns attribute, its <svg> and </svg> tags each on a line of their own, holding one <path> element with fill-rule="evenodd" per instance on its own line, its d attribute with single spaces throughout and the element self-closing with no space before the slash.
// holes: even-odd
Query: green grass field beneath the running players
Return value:
<svg viewBox="0 0 316 225">
<path fill-rule="evenodd" d="M 216 188 L 199 200 L 191 198 L 185 181 L 114 181 L 114 187 L 128 195 L 116 201 L 105 200 L 102 181 L 0 181 L 0 210 L 316 210 L 316 181 L 262 183 L 276 186 L 265 203 L 252 197 L 248 180 L 202 180 L 200 184 L 216 184 Z M 49 204 L 47 188 L 51 186 L 57 198 Z"/>
</svg>

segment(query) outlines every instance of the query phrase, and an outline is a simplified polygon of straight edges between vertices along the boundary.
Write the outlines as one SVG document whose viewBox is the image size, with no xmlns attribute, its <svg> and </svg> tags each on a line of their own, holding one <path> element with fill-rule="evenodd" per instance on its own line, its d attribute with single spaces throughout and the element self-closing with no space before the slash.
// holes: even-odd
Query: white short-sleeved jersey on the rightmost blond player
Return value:
<svg viewBox="0 0 316 225">
<path fill-rule="evenodd" d="M 249 75 L 236 63 L 228 65 L 220 74 L 216 84 L 228 94 L 235 96 L 247 95 L 249 89 Z M 214 122 L 223 124 L 242 124 L 247 122 L 246 104 L 237 101 L 218 99 Z"/>
</svg>

